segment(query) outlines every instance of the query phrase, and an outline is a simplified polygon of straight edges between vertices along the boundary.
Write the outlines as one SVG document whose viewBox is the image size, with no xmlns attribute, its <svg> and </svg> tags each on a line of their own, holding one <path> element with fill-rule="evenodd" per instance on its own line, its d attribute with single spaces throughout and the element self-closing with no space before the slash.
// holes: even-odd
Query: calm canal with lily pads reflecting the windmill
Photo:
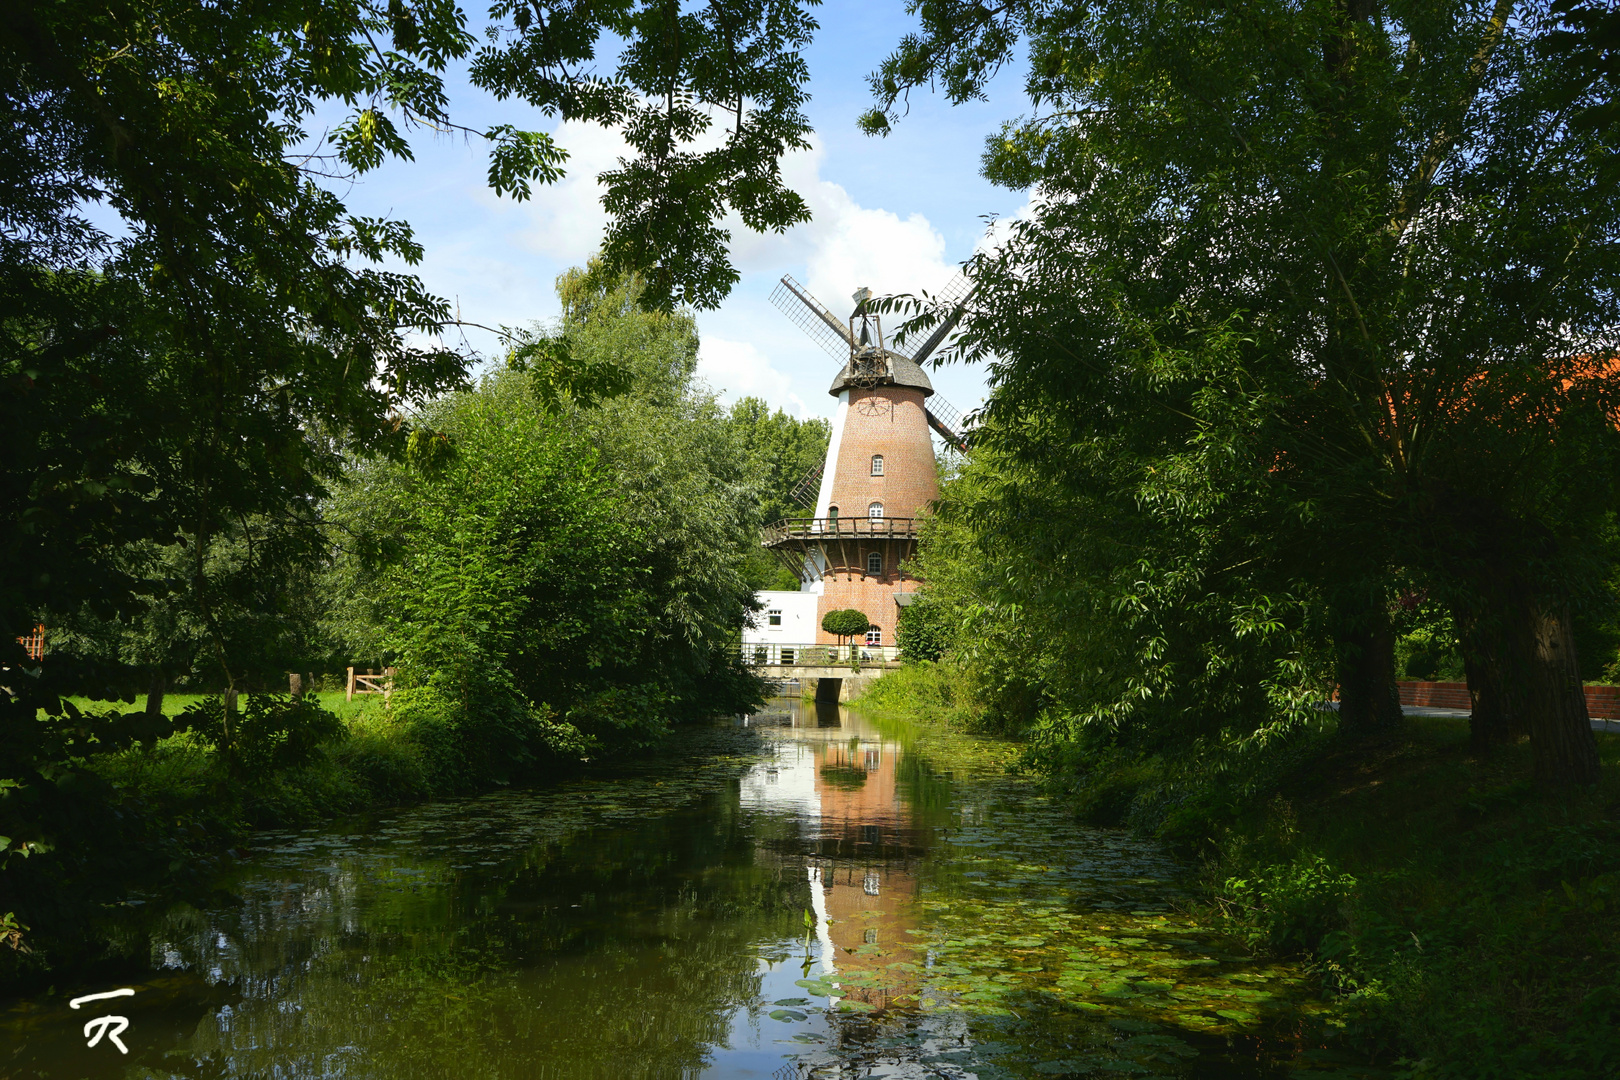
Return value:
<svg viewBox="0 0 1620 1080">
<path fill-rule="evenodd" d="M 1311 1046 L 1302 973 L 1199 926 L 1183 866 L 1013 756 L 779 699 L 658 763 L 258 834 L 217 904 L 130 928 L 144 980 L 0 1012 L 0 1074 L 1380 1075 Z"/>
</svg>

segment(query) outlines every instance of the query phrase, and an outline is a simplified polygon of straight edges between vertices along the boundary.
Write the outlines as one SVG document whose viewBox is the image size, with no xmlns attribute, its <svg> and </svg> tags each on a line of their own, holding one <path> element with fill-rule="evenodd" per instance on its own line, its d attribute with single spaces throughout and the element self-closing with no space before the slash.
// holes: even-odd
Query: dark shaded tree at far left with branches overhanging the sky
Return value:
<svg viewBox="0 0 1620 1080">
<path fill-rule="evenodd" d="M 266 677 L 261 661 L 275 661 L 258 651 L 256 628 L 285 591 L 275 578 L 324 557 L 316 508 L 343 463 L 444 445 L 411 416 L 465 385 L 470 358 L 436 345 L 452 309 L 411 274 L 384 269 L 421 259 L 410 227 L 353 215 L 340 193 L 410 159 L 418 125 L 484 141 L 497 194 L 526 198 L 565 162 L 544 133 L 458 128 L 444 81 L 452 63 L 471 57 L 473 83 L 499 97 L 624 130 L 635 154 L 606 176 L 606 254 L 611 269 L 643 272 L 651 306 L 724 296 L 735 270 L 721 217 L 776 230 L 804 220 L 778 167 L 808 131 L 800 49 L 815 23 L 797 0 L 504 3 L 492 18 L 475 55 L 449 0 L 8 6 L 8 874 L 6 860 L 28 855 L 36 884 L 55 874 L 57 895 L 87 897 L 81 886 L 97 874 L 83 844 L 102 836 L 110 850 L 120 829 L 78 759 L 128 745 L 131 732 L 160 733 L 139 714 L 102 721 L 62 704 L 71 693 L 133 699 L 151 667 L 105 641 L 83 656 L 52 646 L 31 664 L 19 633 L 47 612 L 87 627 L 175 610 L 204 636 L 209 678 L 228 701 Z M 624 45 L 612 78 L 591 63 L 604 32 Z M 345 115 L 314 138 L 309 117 L 327 107 Z M 50 719 L 37 721 L 40 709 Z"/>
</svg>

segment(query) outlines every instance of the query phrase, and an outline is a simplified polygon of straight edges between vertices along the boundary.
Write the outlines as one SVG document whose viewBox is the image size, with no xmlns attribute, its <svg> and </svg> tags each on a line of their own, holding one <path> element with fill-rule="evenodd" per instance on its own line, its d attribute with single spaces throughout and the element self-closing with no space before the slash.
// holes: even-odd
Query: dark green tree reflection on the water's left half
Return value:
<svg viewBox="0 0 1620 1080">
<path fill-rule="evenodd" d="M 240 1001 L 183 1057 L 290 1080 L 697 1070 L 758 994 L 757 944 L 791 936 L 804 905 L 734 803 L 582 829 L 499 876 L 352 863 L 193 918 L 162 949 Z"/>
</svg>

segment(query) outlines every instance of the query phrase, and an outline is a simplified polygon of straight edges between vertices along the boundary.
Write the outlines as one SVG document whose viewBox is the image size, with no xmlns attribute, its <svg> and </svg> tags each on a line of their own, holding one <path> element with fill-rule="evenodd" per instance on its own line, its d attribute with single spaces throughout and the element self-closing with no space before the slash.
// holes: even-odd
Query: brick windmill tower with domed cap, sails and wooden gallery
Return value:
<svg viewBox="0 0 1620 1080">
<path fill-rule="evenodd" d="M 922 369 L 954 329 L 961 303 L 915 353 L 906 355 L 885 337 L 867 288 L 855 293 L 849 319 L 834 316 L 791 277 L 771 300 L 842 369 L 828 389 L 838 411 L 813 517 L 766 528 L 765 547 L 799 575 L 802 594 L 818 597 L 816 643 L 836 641 L 821 630 L 821 619 L 852 607 L 872 622 L 867 644 L 893 644 L 899 609 L 917 588 L 902 563 L 915 557 L 919 518 L 940 494 L 930 431 L 966 450 L 957 434 L 961 415 L 935 395 Z"/>
</svg>

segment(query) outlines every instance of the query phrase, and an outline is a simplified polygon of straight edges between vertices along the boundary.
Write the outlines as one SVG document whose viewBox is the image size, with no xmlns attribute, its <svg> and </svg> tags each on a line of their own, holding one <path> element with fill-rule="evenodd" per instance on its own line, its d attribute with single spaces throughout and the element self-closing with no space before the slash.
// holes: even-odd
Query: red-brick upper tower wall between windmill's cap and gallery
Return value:
<svg viewBox="0 0 1620 1080">
<path fill-rule="evenodd" d="M 872 455 L 883 455 L 883 476 Z M 863 518 L 873 502 L 886 518 L 915 518 L 940 495 L 940 473 L 922 390 L 850 387 L 849 411 L 833 471 L 833 505 L 842 518 Z"/>
</svg>

